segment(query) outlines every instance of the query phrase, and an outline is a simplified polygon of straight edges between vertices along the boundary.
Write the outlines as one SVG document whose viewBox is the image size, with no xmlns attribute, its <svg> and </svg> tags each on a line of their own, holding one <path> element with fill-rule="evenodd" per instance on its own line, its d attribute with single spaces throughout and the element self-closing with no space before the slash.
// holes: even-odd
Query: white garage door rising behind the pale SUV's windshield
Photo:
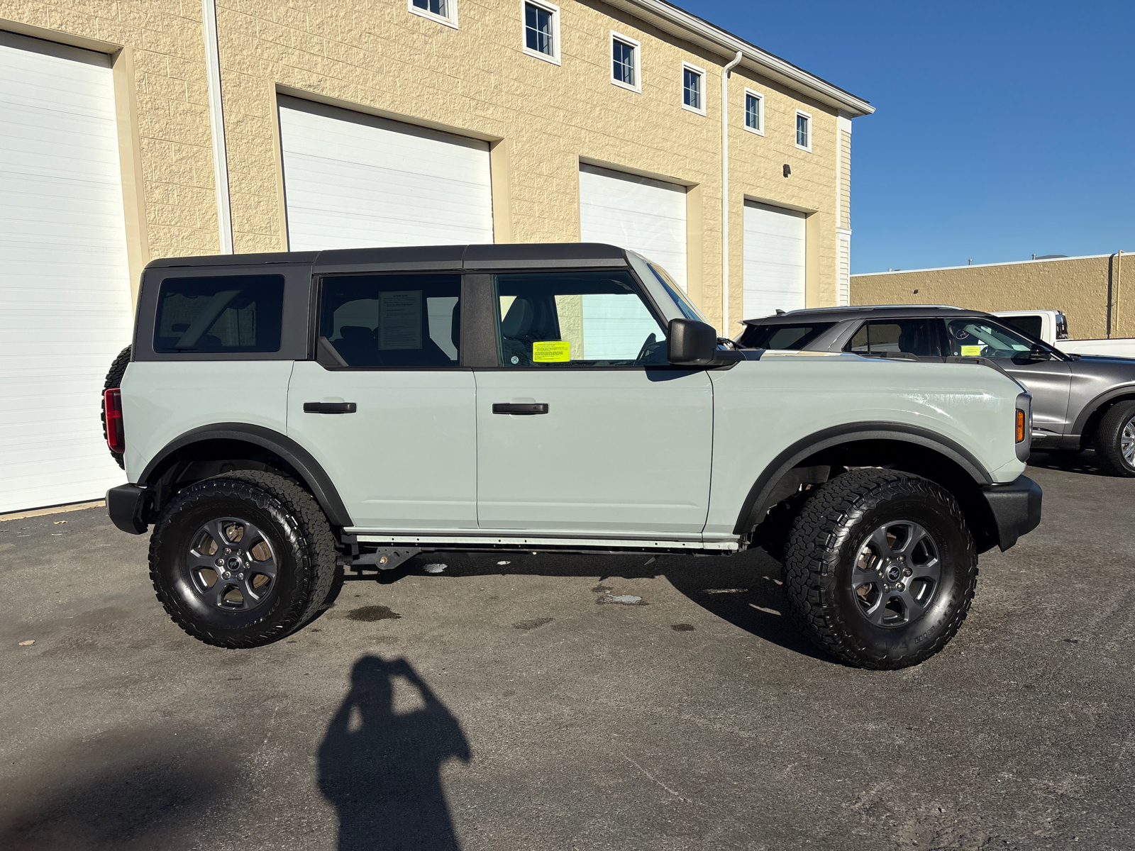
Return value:
<svg viewBox="0 0 1135 851">
<path fill-rule="evenodd" d="M 585 243 L 608 243 L 653 260 L 686 292 L 684 186 L 581 165 L 579 229 Z"/>
</svg>

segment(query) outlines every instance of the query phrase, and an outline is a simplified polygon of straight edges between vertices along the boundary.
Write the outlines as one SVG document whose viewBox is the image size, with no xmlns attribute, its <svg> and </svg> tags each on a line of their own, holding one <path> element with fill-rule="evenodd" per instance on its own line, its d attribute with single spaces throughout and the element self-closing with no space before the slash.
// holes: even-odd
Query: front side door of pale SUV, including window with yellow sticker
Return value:
<svg viewBox="0 0 1135 851">
<path fill-rule="evenodd" d="M 713 387 L 666 361 L 627 270 L 491 276 L 499 363 L 478 369 L 481 529 L 699 538 Z"/>
</svg>

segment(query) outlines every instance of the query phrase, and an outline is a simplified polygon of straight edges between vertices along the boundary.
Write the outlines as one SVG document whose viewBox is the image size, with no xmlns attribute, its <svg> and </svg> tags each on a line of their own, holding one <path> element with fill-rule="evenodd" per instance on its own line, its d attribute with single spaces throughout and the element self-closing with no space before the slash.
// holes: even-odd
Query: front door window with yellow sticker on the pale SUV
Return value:
<svg viewBox="0 0 1135 851">
<path fill-rule="evenodd" d="M 496 276 L 502 366 L 664 366 L 666 330 L 625 271 Z"/>
</svg>

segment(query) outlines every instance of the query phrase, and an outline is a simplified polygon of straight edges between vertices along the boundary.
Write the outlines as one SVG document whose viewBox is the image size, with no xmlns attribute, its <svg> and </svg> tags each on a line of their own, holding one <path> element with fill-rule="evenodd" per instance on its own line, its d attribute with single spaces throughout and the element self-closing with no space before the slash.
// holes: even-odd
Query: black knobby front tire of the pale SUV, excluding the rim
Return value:
<svg viewBox="0 0 1135 851">
<path fill-rule="evenodd" d="M 873 532 L 906 521 L 932 537 L 941 575 L 920 615 L 876 625 L 852 588 L 852 571 Z M 977 553 L 953 497 L 927 479 L 889 470 L 856 470 L 814 491 L 785 554 L 784 588 L 797 622 L 819 648 L 864 668 L 908 667 L 936 654 L 965 621 L 976 585 Z"/>
</svg>

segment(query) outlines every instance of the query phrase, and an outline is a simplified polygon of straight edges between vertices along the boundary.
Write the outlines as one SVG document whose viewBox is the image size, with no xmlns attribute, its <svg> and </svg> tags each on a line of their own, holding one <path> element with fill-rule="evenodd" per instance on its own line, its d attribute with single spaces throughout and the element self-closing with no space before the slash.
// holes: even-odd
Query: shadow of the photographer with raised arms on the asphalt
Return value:
<svg viewBox="0 0 1135 851">
<path fill-rule="evenodd" d="M 395 681 L 421 705 L 395 709 Z M 363 656 L 319 745 L 319 787 L 339 817 L 340 851 L 457 851 L 442 765 L 468 762 L 461 724 L 405 659 Z"/>
</svg>

